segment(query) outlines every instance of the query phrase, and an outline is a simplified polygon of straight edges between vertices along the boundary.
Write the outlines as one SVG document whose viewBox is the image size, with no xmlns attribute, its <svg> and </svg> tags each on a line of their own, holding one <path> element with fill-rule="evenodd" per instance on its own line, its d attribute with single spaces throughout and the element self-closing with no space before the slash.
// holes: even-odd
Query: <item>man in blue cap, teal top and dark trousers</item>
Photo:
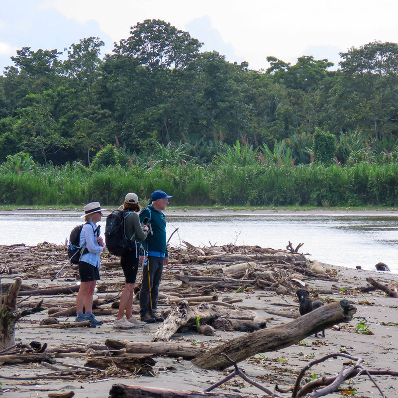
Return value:
<svg viewBox="0 0 398 398">
<path fill-rule="evenodd" d="M 140 212 L 140 221 L 148 217 L 149 234 L 144 243 L 147 254 L 146 265 L 142 269 L 142 286 L 140 289 L 141 321 L 147 323 L 163 322 L 164 318 L 156 310 L 159 285 L 162 279 L 163 265 L 169 263 L 166 245 L 166 219 L 163 210 L 169 204 L 164 191 L 154 191 L 149 205 Z M 144 261 L 144 258 L 142 258 Z"/>
</svg>

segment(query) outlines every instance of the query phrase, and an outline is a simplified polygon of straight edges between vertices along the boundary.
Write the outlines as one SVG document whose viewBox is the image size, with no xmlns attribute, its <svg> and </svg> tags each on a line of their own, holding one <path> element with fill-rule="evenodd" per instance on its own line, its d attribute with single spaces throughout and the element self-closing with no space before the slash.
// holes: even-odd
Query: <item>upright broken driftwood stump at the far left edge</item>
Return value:
<svg viewBox="0 0 398 398">
<path fill-rule="evenodd" d="M 0 298 L 0 350 L 15 344 L 15 322 L 20 316 L 16 310 L 16 298 L 21 287 L 21 279 L 16 278 L 5 296 Z"/>
</svg>

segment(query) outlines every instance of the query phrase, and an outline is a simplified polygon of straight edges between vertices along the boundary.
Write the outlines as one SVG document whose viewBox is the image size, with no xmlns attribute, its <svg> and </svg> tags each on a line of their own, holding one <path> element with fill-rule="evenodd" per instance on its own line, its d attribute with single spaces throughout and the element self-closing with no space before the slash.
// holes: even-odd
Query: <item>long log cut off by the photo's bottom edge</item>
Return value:
<svg viewBox="0 0 398 398">
<path fill-rule="evenodd" d="M 127 386 L 114 384 L 109 391 L 109 398 L 254 398 L 258 394 L 236 393 L 201 393 L 199 391 L 168 390 L 155 387 Z"/>
</svg>

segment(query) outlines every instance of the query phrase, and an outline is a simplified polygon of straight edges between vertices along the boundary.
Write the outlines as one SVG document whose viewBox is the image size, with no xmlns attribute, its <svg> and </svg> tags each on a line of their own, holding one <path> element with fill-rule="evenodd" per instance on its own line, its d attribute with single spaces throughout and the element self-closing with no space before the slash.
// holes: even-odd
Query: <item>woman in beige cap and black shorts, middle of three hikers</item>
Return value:
<svg viewBox="0 0 398 398">
<path fill-rule="evenodd" d="M 148 235 L 148 227 L 141 227 L 138 216 L 140 208 L 138 197 L 134 193 L 127 194 L 124 198 L 124 203 L 120 206 L 120 209 L 124 212 L 125 235 L 130 239 L 131 245 L 130 248 L 120 256 L 120 264 L 126 282 L 120 296 L 119 312 L 113 323 L 113 327 L 117 329 L 128 329 L 145 324 L 145 322 L 135 319 L 132 313 L 134 287 L 140 256 L 139 248 L 141 246 L 141 241 L 145 240 Z M 124 316 L 124 312 L 126 316 Z"/>
</svg>

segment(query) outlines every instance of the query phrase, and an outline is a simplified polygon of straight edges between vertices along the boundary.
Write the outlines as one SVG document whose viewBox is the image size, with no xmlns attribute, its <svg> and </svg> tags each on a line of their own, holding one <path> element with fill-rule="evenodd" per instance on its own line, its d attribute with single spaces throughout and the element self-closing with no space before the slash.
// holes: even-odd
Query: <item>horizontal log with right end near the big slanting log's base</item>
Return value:
<svg viewBox="0 0 398 398">
<path fill-rule="evenodd" d="M 206 350 L 193 345 L 174 342 L 152 342 L 143 343 L 132 341 L 126 344 L 126 352 L 129 354 L 154 354 L 168 357 L 183 357 L 192 359 Z"/>
</svg>

